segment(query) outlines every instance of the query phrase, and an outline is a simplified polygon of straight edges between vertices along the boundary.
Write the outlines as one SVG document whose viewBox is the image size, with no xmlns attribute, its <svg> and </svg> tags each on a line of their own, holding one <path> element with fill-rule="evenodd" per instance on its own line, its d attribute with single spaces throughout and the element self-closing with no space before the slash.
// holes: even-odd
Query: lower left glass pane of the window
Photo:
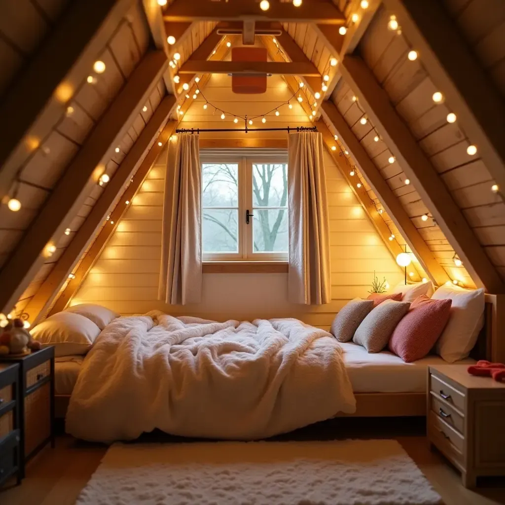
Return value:
<svg viewBox="0 0 505 505">
<path fill-rule="evenodd" d="M 204 252 L 238 252 L 238 210 L 203 209 L 202 247 Z"/>
</svg>

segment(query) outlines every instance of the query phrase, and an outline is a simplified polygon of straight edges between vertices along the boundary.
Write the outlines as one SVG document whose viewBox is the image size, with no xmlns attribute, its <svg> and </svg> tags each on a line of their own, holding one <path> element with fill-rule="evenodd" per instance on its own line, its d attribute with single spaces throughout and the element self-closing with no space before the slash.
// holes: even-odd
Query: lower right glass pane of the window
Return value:
<svg viewBox="0 0 505 505">
<path fill-rule="evenodd" d="M 254 210 L 254 252 L 288 252 L 287 209 Z"/>
</svg>

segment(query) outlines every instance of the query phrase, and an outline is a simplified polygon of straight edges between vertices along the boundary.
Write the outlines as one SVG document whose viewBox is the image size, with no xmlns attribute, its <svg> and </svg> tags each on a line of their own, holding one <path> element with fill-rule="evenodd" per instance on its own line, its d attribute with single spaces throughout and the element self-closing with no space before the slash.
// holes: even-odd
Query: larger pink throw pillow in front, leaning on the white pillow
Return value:
<svg viewBox="0 0 505 505">
<path fill-rule="evenodd" d="M 424 358 L 433 348 L 450 317 L 452 300 L 417 297 L 389 339 L 389 350 L 406 363 Z"/>
</svg>

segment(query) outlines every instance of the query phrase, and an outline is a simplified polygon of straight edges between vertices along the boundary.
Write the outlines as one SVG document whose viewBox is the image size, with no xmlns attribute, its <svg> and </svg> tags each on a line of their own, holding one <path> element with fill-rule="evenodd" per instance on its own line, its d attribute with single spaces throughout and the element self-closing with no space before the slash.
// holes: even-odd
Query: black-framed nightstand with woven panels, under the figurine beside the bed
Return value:
<svg viewBox="0 0 505 505">
<path fill-rule="evenodd" d="M 55 349 L 31 352 L 22 358 L 2 358 L 17 363 L 19 380 L 19 426 L 21 430 L 21 476 L 25 463 L 48 442 L 55 444 Z"/>
</svg>

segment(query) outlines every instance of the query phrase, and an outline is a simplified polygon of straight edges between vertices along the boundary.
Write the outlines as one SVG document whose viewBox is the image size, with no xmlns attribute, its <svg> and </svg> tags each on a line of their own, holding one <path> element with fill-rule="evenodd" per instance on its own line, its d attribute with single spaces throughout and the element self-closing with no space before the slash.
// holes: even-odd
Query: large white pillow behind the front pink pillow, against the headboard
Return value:
<svg viewBox="0 0 505 505">
<path fill-rule="evenodd" d="M 436 344 L 436 352 L 453 363 L 466 358 L 484 326 L 484 289 L 463 289 L 453 284 L 439 287 L 435 300 L 450 298 L 450 318 Z"/>
</svg>

